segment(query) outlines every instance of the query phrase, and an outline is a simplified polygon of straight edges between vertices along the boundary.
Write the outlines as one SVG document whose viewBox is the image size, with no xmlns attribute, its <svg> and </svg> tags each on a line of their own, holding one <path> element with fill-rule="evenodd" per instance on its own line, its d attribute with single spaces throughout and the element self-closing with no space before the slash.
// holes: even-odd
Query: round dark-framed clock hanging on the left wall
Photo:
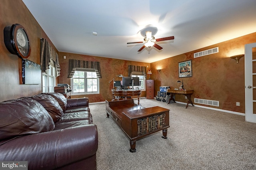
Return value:
<svg viewBox="0 0 256 170">
<path fill-rule="evenodd" d="M 27 59 L 30 55 L 28 34 L 18 23 L 4 28 L 4 44 L 10 53 L 16 54 L 22 59 Z"/>
</svg>

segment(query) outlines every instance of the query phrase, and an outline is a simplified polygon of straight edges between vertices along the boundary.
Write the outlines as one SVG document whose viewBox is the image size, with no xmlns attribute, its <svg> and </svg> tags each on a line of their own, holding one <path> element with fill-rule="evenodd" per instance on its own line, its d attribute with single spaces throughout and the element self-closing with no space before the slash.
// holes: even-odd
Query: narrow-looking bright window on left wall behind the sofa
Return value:
<svg viewBox="0 0 256 170">
<path fill-rule="evenodd" d="M 54 66 L 50 65 L 50 68 L 42 73 L 42 92 L 54 92 L 55 80 L 56 69 Z"/>
</svg>

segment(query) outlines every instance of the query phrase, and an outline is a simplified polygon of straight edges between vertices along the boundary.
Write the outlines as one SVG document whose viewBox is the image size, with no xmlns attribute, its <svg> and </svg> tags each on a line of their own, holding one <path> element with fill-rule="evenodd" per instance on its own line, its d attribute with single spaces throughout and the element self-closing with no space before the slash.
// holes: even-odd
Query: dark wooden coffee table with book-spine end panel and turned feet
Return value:
<svg viewBox="0 0 256 170">
<path fill-rule="evenodd" d="M 130 152 L 136 152 L 136 140 L 157 131 L 162 130 L 162 138 L 167 139 L 169 111 L 158 106 L 145 108 L 134 104 L 133 99 L 106 100 L 107 117 L 112 117 L 130 139 Z"/>
</svg>

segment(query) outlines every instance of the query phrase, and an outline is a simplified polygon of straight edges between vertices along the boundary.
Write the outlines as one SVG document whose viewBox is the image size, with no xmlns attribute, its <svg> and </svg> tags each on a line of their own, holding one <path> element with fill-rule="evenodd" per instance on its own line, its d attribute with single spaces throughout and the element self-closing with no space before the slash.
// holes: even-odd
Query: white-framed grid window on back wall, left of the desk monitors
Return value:
<svg viewBox="0 0 256 170">
<path fill-rule="evenodd" d="M 72 94 L 99 94 L 99 78 L 96 72 L 75 71 L 71 78 Z"/>
</svg>

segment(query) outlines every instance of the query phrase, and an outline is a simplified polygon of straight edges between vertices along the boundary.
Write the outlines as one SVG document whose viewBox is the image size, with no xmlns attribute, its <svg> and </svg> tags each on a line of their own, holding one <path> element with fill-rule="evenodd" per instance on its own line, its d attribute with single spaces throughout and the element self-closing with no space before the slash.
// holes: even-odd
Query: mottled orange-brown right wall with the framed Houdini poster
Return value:
<svg viewBox="0 0 256 170">
<path fill-rule="evenodd" d="M 252 33 L 151 63 L 152 79 L 155 80 L 154 93 L 159 91 L 160 86 L 178 88 L 180 84 L 177 81 L 183 80 L 185 89 L 194 89 L 193 102 L 194 98 L 217 100 L 220 106 L 215 108 L 245 113 L 244 57 L 238 64 L 230 57 L 244 54 L 244 45 L 256 42 L 255 37 L 256 33 Z M 194 58 L 194 53 L 215 47 L 219 47 L 219 53 Z M 192 77 L 179 78 L 178 62 L 186 60 L 192 60 Z M 156 70 L 158 68 L 162 69 L 160 74 Z M 176 100 L 186 102 L 183 95 L 176 95 Z M 240 106 L 236 106 L 236 102 L 240 102 Z"/>
</svg>

